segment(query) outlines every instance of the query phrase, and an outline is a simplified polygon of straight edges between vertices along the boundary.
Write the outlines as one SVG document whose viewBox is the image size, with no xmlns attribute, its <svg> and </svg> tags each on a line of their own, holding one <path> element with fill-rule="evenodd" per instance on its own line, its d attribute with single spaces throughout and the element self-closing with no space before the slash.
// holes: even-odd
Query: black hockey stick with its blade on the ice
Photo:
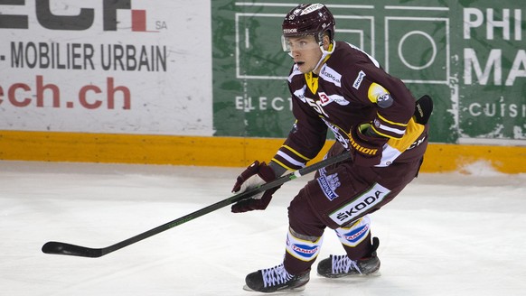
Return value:
<svg viewBox="0 0 526 296">
<path fill-rule="evenodd" d="M 240 194 L 236 194 L 228 199 L 223 199 L 219 202 L 216 202 L 206 208 L 202 208 L 199 210 L 194 211 L 193 213 L 190 213 L 186 216 L 179 217 L 173 221 L 170 221 L 162 226 L 155 227 L 153 229 L 150 229 L 142 234 L 130 237 L 126 240 L 123 240 L 122 242 L 119 242 L 115 245 L 109 245 L 107 247 L 102 248 L 90 248 L 86 246 L 80 246 L 80 245 L 70 245 L 66 243 L 60 243 L 60 242 L 47 242 L 44 245 L 42 245 L 42 252 L 45 254 L 67 254 L 71 256 L 80 256 L 80 257 L 91 257 L 91 258 L 98 258 L 100 256 L 103 256 L 105 254 L 109 254 L 112 252 L 115 252 L 119 249 L 122 249 L 123 247 L 127 245 L 135 244 L 136 242 L 139 242 L 147 237 L 155 236 L 165 230 L 168 230 L 173 227 L 177 227 L 183 223 L 186 223 L 188 221 L 193 220 L 196 217 L 201 217 L 203 215 L 206 215 L 208 213 L 211 213 L 212 211 L 226 207 L 230 204 L 236 203 L 242 199 L 249 199 L 250 197 L 255 196 L 259 192 L 263 192 L 265 190 L 269 190 L 272 188 L 275 188 L 279 185 L 282 185 L 286 183 L 289 180 L 294 180 L 298 177 L 301 177 L 305 174 L 317 171 L 319 169 L 322 169 L 328 165 L 334 164 L 336 162 L 342 162 L 346 159 L 348 159 L 351 156 L 349 152 L 342 153 L 340 155 L 336 155 L 330 158 L 327 158 L 321 162 L 316 162 L 315 164 L 309 165 L 303 169 L 299 169 L 297 171 L 288 173 L 280 178 L 277 178 L 276 180 L 272 180 L 266 184 L 263 184 L 259 186 L 258 188 L 254 190 L 249 190 L 242 192 Z"/>
</svg>

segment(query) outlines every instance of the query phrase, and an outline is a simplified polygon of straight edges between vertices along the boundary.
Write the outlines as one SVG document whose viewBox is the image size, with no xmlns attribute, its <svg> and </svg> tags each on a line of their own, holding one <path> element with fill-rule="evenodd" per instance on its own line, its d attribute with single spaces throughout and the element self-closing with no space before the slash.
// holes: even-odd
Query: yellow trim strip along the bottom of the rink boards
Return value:
<svg viewBox="0 0 526 296">
<path fill-rule="evenodd" d="M 0 131 L 0 160 L 245 167 L 254 160 L 271 159 L 283 142 L 268 138 Z M 333 143 L 327 141 L 311 163 L 319 162 Z M 524 173 L 526 147 L 430 143 L 421 171 L 462 171 L 474 162 L 487 162 L 495 171 Z"/>
</svg>

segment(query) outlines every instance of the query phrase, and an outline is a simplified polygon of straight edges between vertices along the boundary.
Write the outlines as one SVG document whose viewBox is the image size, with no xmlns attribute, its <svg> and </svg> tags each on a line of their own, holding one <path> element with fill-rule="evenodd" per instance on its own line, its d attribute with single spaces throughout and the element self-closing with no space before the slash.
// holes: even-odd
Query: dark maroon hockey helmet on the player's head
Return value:
<svg viewBox="0 0 526 296">
<path fill-rule="evenodd" d="M 325 5 L 297 5 L 283 20 L 283 37 L 315 35 L 316 41 L 321 42 L 324 32 L 329 32 L 333 41 L 335 24 L 333 14 Z"/>
</svg>

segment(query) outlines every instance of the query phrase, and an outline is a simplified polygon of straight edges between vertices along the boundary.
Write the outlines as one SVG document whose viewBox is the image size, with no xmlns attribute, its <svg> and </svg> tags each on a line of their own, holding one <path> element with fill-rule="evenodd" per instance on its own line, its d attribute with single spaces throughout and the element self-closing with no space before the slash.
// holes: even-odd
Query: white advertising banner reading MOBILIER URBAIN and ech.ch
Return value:
<svg viewBox="0 0 526 296">
<path fill-rule="evenodd" d="M 211 135 L 210 2 L 0 0 L 0 129 Z"/>
</svg>

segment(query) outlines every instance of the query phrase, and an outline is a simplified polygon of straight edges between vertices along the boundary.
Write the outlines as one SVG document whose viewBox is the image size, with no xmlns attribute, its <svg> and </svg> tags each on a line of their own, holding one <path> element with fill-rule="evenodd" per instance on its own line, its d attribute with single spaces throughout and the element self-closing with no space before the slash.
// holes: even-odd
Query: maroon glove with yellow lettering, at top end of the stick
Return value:
<svg viewBox="0 0 526 296">
<path fill-rule="evenodd" d="M 370 125 L 352 127 L 349 140 L 351 141 L 352 161 L 359 166 L 371 167 L 380 163 L 382 147 L 388 138 L 366 133 Z"/>
</svg>

